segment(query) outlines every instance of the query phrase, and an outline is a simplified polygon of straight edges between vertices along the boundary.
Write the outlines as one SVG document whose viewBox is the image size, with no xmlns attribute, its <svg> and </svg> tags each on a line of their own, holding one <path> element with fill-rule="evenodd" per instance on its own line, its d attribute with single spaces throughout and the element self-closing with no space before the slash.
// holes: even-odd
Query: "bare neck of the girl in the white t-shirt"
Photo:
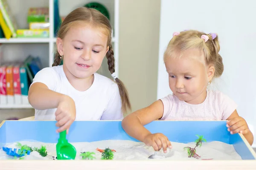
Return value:
<svg viewBox="0 0 256 170">
<path fill-rule="evenodd" d="M 94 75 L 91 75 L 84 79 L 80 79 L 78 77 L 75 77 L 72 73 L 70 73 L 70 71 L 68 71 L 67 68 L 63 67 L 63 70 L 67 77 L 67 80 L 78 91 L 86 91 L 93 84 Z"/>
</svg>

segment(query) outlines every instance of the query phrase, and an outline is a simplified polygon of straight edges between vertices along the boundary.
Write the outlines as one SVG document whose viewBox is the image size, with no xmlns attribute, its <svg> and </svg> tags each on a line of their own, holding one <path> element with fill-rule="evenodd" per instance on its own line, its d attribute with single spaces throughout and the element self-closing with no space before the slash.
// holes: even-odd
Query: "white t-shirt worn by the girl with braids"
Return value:
<svg viewBox="0 0 256 170">
<path fill-rule="evenodd" d="M 76 120 L 123 119 L 117 84 L 100 74 L 94 74 L 93 84 L 86 91 L 78 91 L 70 84 L 63 65 L 42 69 L 35 75 L 33 83 L 35 82 L 44 83 L 50 90 L 70 96 L 76 105 Z M 35 109 L 35 120 L 55 120 L 56 110 L 57 108 Z"/>
</svg>

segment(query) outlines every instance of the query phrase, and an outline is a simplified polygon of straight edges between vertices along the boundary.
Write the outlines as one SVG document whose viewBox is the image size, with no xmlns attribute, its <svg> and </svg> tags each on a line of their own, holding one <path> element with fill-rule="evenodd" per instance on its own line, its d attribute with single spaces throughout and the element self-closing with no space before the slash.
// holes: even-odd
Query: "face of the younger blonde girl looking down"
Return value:
<svg viewBox="0 0 256 170">
<path fill-rule="evenodd" d="M 178 59 L 169 57 L 165 65 L 175 96 L 190 104 L 204 101 L 208 82 L 214 75 L 214 67 L 205 65 L 204 54 L 196 49 L 186 50 Z"/>
</svg>

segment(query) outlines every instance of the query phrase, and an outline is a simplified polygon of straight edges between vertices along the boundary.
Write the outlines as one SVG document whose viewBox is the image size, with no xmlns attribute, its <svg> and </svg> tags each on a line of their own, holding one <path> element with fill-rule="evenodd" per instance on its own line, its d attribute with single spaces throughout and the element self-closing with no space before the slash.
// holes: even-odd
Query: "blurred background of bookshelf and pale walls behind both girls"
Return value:
<svg viewBox="0 0 256 170">
<path fill-rule="evenodd" d="M 87 6 L 98 9 L 110 20 L 116 73 L 128 89 L 132 111 L 172 93 L 163 52 L 174 31 L 216 32 L 224 74 L 211 88 L 235 100 L 238 113 L 256 135 L 254 0 L 0 0 L 0 3 L 5 8 L 0 9 L 0 122 L 34 116 L 35 111 L 27 101 L 29 84 L 39 70 L 52 65 L 59 24 L 73 9 Z M 106 60 L 99 73 L 111 78 Z M 256 147 L 256 142 L 253 146 Z"/>
</svg>

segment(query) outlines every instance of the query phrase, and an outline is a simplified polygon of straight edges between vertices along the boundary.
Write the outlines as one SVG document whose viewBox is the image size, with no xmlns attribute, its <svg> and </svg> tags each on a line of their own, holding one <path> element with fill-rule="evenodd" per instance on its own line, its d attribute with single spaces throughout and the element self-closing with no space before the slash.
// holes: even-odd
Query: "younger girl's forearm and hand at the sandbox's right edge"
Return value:
<svg viewBox="0 0 256 170">
<path fill-rule="evenodd" d="M 229 127 L 228 129 L 230 133 L 232 132 L 231 134 L 241 133 L 250 145 L 253 144 L 253 133 L 250 131 L 244 118 L 239 116 L 236 110 L 227 118 L 227 120 L 227 126 Z"/>
</svg>

